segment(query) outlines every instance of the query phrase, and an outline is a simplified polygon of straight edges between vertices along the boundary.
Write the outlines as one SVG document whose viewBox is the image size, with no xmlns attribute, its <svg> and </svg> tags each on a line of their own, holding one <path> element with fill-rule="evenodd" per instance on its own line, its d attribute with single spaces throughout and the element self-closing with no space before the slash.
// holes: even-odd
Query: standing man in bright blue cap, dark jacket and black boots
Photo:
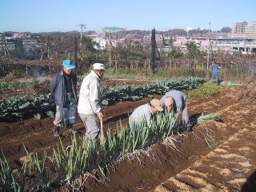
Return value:
<svg viewBox="0 0 256 192">
<path fill-rule="evenodd" d="M 73 126 L 77 123 L 78 98 L 77 98 L 77 75 L 72 72 L 75 66 L 70 60 L 62 62 L 62 70 L 54 74 L 50 80 L 50 93 L 54 96 L 56 115 L 54 120 L 54 136 L 59 136 L 61 126 L 76 134 Z"/>
</svg>

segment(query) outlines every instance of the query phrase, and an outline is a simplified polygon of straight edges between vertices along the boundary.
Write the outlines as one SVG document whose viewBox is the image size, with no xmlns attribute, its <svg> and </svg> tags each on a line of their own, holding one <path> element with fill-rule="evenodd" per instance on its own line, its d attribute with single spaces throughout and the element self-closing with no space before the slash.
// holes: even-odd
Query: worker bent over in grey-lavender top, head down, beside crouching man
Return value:
<svg viewBox="0 0 256 192">
<path fill-rule="evenodd" d="M 179 90 L 170 90 L 161 99 L 161 106 L 166 106 L 167 110 L 173 110 L 174 116 L 182 113 L 182 126 L 187 131 L 192 131 L 190 127 L 190 115 L 186 107 L 186 95 Z"/>
</svg>

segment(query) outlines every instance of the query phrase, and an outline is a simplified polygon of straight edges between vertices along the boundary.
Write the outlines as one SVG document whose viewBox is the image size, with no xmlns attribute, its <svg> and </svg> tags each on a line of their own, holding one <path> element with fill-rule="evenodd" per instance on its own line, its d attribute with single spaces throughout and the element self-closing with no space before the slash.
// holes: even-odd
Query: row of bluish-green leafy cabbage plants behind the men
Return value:
<svg viewBox="0 0 256 192">
<path fill-rule="evenodd" d="M 205 78 L 173 78 L 142 86 L 103 86 L 102 105 L 112 105 L 120 101 L 136 101 L 142 97 L 153 97 L 152 94 L 165 94 L 169 90 L 191 90 L 204 82 L 206 82 Z M 51 94 L 0 99 L 0 122 L 14 122 L 33 117 L 53 117 L 54 108 Z"/>
</svg>

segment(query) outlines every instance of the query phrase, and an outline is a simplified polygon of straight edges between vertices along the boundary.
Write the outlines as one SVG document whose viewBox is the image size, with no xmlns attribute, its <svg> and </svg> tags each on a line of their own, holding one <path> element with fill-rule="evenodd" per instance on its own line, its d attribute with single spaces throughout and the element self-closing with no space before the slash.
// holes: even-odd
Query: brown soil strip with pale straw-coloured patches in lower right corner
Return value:
<svg viewBox="0 0 256 192">
<path fill-rule="evenodd" d="M 152 191 L 255 191 L 255 123 Z"/>
</svg>

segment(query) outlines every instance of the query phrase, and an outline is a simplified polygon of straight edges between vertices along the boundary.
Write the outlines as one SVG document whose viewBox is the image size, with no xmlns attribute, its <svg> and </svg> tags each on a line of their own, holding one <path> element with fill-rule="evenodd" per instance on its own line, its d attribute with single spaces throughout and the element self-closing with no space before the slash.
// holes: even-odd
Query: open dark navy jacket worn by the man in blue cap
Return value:
<svg viewBox="0 0 256 192">
<path fill-rule="evenodd" d="M 63 70 L 58 71 L 57 74 L 54 74 L 54 77 L 50 80 L 50 93 L 54 95 L 54 102 L 58 106 L 63 106 L 66 102 L 66 86 L 64 85 L 64 76 Z M 71 82 L 72 82 L 72 90 L 74 94 L 74 99 L 77 102 L 77 90 L 76 85 L 78 82 L 77 75 L 71 73 Z"/>
</svg>

